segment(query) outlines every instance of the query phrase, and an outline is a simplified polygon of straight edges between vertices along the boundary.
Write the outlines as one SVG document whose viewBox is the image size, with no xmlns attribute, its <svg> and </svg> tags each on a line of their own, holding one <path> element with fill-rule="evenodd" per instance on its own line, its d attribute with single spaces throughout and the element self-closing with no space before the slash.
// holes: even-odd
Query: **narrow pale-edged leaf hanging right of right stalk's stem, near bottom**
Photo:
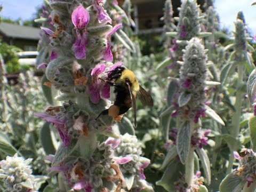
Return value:
<svg viewBox="0 0 256 192">
<path fill-rule="evenodd" d="M 210 183 L 211 183 L 211 164 L 209 161 L 209 157 L 207 156 L 207 154 L 203 148 L 202 149 L 197 148 L 196 151 L 197 151 L 197 154 L 201 161 L 201 164 L 203 166 L 204 175 L 205 175 L 207 184 L 210 185 Z"/>
</svg>

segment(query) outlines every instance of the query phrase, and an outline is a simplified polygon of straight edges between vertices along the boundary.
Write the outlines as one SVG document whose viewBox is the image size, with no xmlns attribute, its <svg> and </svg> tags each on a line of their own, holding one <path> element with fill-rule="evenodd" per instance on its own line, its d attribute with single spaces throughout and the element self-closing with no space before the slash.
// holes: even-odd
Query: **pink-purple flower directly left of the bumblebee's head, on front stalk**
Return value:
<svg viewBox="0 0 256 192">
<path fill-rule="evenodd" d="M 94 104 L 100 102 L 100 85 L 101 80 L 98 78 L 100 74 L 105 70 L 106 65 L 104 63 L 98 64 L 92 69 L 92 85 L 89 87 L 90 99 Z"/>
</svg>

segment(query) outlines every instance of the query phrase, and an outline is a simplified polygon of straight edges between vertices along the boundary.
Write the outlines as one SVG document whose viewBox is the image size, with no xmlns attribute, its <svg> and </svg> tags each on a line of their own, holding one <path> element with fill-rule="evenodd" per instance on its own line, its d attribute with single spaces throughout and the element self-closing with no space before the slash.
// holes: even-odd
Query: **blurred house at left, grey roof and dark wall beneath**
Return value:
<svg viewBox="0 0 256 192">
<path fill-rule="evenodd" d="M 23 51 L 36 51 L 40 31 L 40 28 L 0 23 L 0 39 L 10 45 L 20 47 Z"/>
</svg>

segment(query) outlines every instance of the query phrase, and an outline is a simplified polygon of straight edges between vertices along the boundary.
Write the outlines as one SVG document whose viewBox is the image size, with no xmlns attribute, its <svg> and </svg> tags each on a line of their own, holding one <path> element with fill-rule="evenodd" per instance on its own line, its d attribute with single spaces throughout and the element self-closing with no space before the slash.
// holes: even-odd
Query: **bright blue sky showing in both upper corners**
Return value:
<svg viewBox="0 0 256 192">
<path fill-rule="evenodd" d="M 252 34 L 256 34 L 256 5 L 251 6 L 254 1 L 256 0 L 215 0 L 221 26 L 234 30 L 236 14 L 243 11 L 249 29 Z M 33 18 L 36 7 L 42 5 L 43 0 L 0 0 L 0 4 L 4 6 L 0 13 L 2 17 L 27 20 Z"/>
</svg>

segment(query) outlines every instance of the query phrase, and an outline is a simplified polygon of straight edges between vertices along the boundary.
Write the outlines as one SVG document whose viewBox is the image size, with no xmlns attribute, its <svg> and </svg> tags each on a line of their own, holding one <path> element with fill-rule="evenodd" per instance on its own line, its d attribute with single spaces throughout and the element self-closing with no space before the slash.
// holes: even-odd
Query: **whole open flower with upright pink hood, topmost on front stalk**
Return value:
<svg viewBox="0 0 256 192">
<path fill-rule="evenodd" d="M 85 27 L 88 25 L 90 15 L 83 6 L 78 6 L 71 15 L 72 22 L 76 27 L 77 39 L 73 44 L 76 59 L 86 58 L 87 36 Z"/>
</svg>

